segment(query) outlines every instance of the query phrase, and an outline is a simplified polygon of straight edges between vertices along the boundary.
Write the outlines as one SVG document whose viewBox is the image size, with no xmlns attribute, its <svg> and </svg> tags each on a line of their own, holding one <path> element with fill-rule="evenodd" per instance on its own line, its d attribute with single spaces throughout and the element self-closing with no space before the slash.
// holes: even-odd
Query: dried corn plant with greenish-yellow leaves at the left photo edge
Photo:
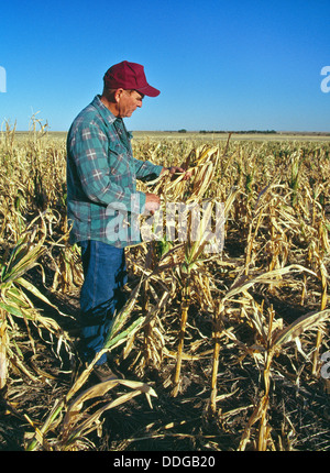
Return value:
<svg viewBox="0 0 330 473">
<path fill-rule="evenodd" d="M 46 251 L 46 229 L 44 219 L 34 220 L 20 237 L 16 244 L 7 252 L 0 261 L 0 310 L 1 310 L 1 384 L 6 384 L 9 363 L 14 364 L 31 380 L 35 376 L 24 365 L 20 351 L 15 350 L 14 333 L 15 319 L 21 319 L 26 327 L 31 349 L 35 352 L 35 341 L 31 334 L 30 326 L 37 328 L 40 333 L 46 330 L 51 337 L 68 341 L 61 326 L 52 318 L 45 317 L 37 310 L 29 294 L 42 302 L 56 309 L 50 299 L 29 278 L 24 277 L 32 268 L 38 265 L 38 260 Z M 57 310 L 57 309 L 56 309 Z M 59 311 L 58 311 L 59 312 Z M 61 312 L 59 312 L 61 314 Z"/>
</svg>

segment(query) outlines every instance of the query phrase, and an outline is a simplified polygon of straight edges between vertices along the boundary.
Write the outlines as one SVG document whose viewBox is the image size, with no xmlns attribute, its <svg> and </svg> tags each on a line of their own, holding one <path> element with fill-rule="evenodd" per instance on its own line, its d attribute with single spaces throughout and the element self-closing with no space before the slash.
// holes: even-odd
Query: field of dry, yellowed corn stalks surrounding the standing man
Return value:
<svg viewBox="0 0 330 473">
<path fill-rule="evenodd" d="M 329 141 L 133 140 L 191 170 L 139 183 L 163 208 L 222 202 L 223 248 L 201 224 L 127 249 L 105 346 L 125 378 L 97 383 L 78 355 L 65 138 L 34 117 L 0 139 L 1 450 L 330 450 Z"/>
</svg>

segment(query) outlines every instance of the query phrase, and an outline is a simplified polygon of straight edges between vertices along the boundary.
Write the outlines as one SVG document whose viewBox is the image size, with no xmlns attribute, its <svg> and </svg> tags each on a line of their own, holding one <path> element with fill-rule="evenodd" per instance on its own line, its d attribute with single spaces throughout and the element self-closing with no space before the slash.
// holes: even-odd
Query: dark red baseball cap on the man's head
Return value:
<svg viewBox="0 0 330 473">
<path fill-rule="evenodd" d="M 144 67 L 128 61 L 111 66 L 105 74 L 103 81 L 108 89 L 138 90 L 148 97 L 157 97 L 161 94 L 147 84 Z"/>
</svg>

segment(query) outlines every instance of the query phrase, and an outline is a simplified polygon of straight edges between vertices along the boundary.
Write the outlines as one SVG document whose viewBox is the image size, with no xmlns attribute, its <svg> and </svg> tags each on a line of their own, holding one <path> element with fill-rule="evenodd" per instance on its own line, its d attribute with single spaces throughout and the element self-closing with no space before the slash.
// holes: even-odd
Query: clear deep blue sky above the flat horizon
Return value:
<svg viewBox="0 0 330 473">
<path fill-rule="evenodd" d="M 329 0 L 6 1 L 0 123 L 66 131 L 127 59 L 161 90 L 130 130 L 330 131 L 329 21 Z"/>
</svg>

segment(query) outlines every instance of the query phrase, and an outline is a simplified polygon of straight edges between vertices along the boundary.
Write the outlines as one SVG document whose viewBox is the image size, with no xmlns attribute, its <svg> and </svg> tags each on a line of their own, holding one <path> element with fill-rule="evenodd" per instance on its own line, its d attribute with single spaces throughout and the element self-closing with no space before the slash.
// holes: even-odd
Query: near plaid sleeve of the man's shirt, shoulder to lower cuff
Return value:
<svg viewBox="0 0 330 473">
<path fill-rule="evenodd" d="M 70 140 L 74 160 L 84 194 L 91 201 L 108 206 L 119 202 L 131 210 L 132 190 L 111 179 L 108 164 L 108 138 L 97 124 L 78 128 Z M 139 195 L 139 213 L 145 206 L 145 195 Z M 136 207 L 134 206 L 136 209 Z M 138 210 L 138 209 L 136 209 Z"/>
</svg>

